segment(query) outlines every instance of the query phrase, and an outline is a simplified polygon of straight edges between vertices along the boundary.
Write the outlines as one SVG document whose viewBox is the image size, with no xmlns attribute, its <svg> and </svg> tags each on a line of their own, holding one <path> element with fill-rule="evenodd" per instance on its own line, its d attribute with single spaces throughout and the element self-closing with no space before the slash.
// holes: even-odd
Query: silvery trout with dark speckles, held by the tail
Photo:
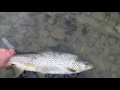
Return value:
<svg viewBox="0 0 120 90">
<path fill-rule="evenodd" d="M 37 72 L 39 77 L 45 74 L 74 74 L 93 68 L 93 65 L 77 55 L 47 51 L 34 54 L 15 54 L 9 63 L 13 65 L 18 77 L 24 70 Z"/>
</svg>

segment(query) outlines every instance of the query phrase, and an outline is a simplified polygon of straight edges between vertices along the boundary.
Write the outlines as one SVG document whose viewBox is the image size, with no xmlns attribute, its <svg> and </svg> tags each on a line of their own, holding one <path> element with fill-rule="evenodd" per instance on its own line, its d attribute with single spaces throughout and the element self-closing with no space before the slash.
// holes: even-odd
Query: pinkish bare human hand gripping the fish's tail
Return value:
<svg viewBox="0 0 120 90">
<path fill-rule="evenodd" d="M 10 66 L 8 62 L 14 53 L 14 49 L 0 48 L 0 69 Z"/>
</svg>

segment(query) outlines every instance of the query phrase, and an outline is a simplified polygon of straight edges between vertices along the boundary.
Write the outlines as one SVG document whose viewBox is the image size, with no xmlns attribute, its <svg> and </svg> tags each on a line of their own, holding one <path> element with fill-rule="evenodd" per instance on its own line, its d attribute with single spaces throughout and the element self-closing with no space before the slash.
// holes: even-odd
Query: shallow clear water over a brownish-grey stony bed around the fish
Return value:
<svg viewBox="0 0 120 90">
<path fill-rule="evenodd" d="M 93 69 L 71 77 L 120 77 L 118 12 L 0 12 L 0 33 L 21 52 L 60 46 L 54 49 L 93 63 Z"/>
</svg>

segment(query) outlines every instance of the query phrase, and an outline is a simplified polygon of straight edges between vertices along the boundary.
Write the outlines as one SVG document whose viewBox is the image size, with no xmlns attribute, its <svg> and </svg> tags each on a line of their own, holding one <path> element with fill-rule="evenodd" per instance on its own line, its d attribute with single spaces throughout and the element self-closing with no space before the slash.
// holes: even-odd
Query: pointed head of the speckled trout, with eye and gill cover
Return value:
<svg viewBox="0 0 120 90">
<path fill-rule="evenodd" d="M 74 73 L 79 73 L 92 68 L 93 68 L 93 65 L 86 61 L 86 62 L 75 62 L 72 68 L 69 68 L 69 70 Z"/>
</svg>

